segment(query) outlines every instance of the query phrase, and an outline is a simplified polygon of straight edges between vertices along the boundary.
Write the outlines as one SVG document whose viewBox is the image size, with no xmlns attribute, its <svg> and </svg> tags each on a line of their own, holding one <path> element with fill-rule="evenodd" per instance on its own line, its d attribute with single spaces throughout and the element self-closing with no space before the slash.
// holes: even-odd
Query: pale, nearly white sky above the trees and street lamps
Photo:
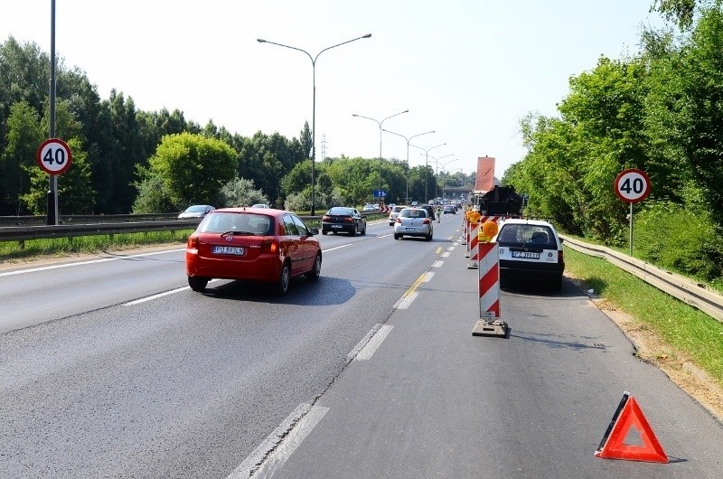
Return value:
<svg viewBox="0 0 723 479">
<path fill-rule="evenodd" d="M 56 0 L 55 51 L 101 99 L 116 89 L 137 109 L 179 109 L 241 136 L 299 137 L 315 118 L 317 160 L 381 150 L 410 166 L 470 174 L 487 155 L 501 178 L 527 153 L 521 119 L 558 116 L 571 76 L 600 56 L 638 52 L 643 26 L 663 25 L 652 4 Z M 51 6 L 3 0 L 0 41 L 13 36 L 50 53 Z"/>
</svg>

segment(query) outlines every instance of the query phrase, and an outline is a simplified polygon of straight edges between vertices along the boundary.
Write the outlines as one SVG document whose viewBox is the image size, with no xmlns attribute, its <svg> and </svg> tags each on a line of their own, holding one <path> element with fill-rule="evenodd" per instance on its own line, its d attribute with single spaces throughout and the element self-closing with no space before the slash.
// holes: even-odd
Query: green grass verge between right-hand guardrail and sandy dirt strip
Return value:
<svg viewBox="0 0 723 479">
<path fill-rule="evenodd" d="M 662 341 L 665 350 L 653 352 L 653 362 L 692 362 L 723 388 L 723 323 L 603 258 L 566 248 L 565 268 L 609 305 L 632 315 L 634 327 Z"/>
</svg>

